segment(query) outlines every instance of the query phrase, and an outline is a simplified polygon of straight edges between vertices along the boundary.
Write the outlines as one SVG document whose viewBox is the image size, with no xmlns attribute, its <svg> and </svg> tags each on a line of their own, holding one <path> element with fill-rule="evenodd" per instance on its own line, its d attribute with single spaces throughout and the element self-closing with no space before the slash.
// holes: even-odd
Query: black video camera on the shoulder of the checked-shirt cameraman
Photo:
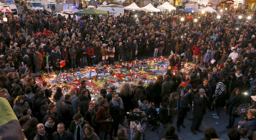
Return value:
<svg viewBox="0 0 256 140">
<path fill-rule="evenodd" d="M 135 112 L 133 110 L 130 110 L 130 112 L 127 112 L 129 114 L 129 121 L 139 121 L 141 124 L 143 122 L 148 122 L 150 119 L 150 116 L 146 115 L 145 112 Z"/>
</svg>

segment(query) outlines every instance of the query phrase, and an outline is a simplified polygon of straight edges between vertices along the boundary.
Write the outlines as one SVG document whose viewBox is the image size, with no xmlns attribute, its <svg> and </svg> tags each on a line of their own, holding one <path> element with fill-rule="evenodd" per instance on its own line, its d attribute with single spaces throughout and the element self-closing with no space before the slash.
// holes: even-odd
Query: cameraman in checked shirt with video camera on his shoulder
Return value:
<svg viewBox="0 0 256 140">
<path fill-rule="evenodd" d="M 133 109 L 133 112 L 140 112 L 140 110 L 138 108 Z M 139 113 L 138 113 L 139 114 Z M 142 115 L 146 115 L 145 112 L 142 112 Z M 132 117 L 129 117 L 129 120 Z M 142 122 L 142 123 L 141 123 Z M 141 126 L 140 130 L 138 130 L 137 126 Z M 147 117 L 138 117 L 136 119 L 132 119 L 130 121 L 130 139 L 133 140 L 133 137 L 135 137 L 135 133 L 137 131 L 140 131 L 140 133 L 142 134 L 140 137 L 140 140 L 143 140 L 143 137 L 145 137 L 145 130 L 147 128 Z"/>
</svg>

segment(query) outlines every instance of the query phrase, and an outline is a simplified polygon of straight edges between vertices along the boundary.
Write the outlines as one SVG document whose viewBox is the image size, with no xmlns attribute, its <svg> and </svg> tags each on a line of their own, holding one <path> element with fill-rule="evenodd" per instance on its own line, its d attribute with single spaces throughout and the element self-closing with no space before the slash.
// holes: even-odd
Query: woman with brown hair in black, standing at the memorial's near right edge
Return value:
<svg viewBox="0 0 256 140">
<path fill-rule="evenodd" d="M 155 81 L 155 96 L 154 96 L 154 103 L 156 107 L 159 107 L 160 103 L 162 102 L 161 92 L 162 92 L 162 84 L 164 81 L 163 75 L 157 75 L 157 80 Z"/>
</svg>

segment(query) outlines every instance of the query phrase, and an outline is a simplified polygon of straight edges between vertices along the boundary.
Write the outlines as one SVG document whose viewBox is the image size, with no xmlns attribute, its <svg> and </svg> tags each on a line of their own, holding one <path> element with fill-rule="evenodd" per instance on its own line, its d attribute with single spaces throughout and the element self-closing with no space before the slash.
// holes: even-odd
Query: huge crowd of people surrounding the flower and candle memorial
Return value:
<svg viewBox="0 0 256 140">
<path fill-rule="evenodd" d="M 221 19 L 213 13 L 191 14 L 197 22 L 181 21 L 188 13 L 180 12 L 136 16 L 125 12 L 99 20 L 81 16 L 76 21 L 75 16 L 24 8 L 18 17 L 6 14 L 7 22 L 0 28 L 0 96 L 9 101 L 26 138 L 126 140 L 123 123 L 128 120 L 131 140 L 145 139 L 148 126 L 152 130 L 159 126 L 159 140 L 179 140 L 176 131 L 186 128 L 184 119 L 193 109 L 188 118 L 191 132 L 203 132 L 206 140 L 218 139 L 214 128 L 202 131 L 200 124 L 207 111 L 221 119 L 225 109 L 227 128 L 242 117 L 238 130 L 229 130 L 229 139 L 256 140 L 255 19 L 246 21 L 247 14 L 236 10 L 224 12 Z M 158 56 L 169 57 L 165 75 L 157 75 L 147 87 L 142 80 L 124 82 L 119 92 L 110 85 L 100 90 L 95 103 L 90 102 L 86 81 L 65 96 L 60 87 L 52 93 L 46 81 L 35 82 L 35 73 L 58 71 L 60 61 L 69 70 Z M 182 62 L 193 65 L 184 68 Z M 242 112 L 239 105 L 246 103 L 251 106 Z M 142 118 L 131 119 L 126 115 L 131 110 Z"/>
</svg>

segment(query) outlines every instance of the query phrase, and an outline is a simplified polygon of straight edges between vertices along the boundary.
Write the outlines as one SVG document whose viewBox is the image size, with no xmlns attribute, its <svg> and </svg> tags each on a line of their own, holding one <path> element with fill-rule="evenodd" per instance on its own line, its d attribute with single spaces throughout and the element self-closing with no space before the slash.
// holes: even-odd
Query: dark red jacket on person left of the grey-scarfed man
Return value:
<svg viewBox="0 0 256 140">
<path fill-rule="evenodd" d="M 106 110 L 103 106 L 99 106 L 99 110 L 96 112 L 95 122 L 99 123 L 99 131 L 109 132 L 111 128 L 111 122 L 103 122 L 105 119 L 111 118 L 109 108 Z"/>
</svg>

